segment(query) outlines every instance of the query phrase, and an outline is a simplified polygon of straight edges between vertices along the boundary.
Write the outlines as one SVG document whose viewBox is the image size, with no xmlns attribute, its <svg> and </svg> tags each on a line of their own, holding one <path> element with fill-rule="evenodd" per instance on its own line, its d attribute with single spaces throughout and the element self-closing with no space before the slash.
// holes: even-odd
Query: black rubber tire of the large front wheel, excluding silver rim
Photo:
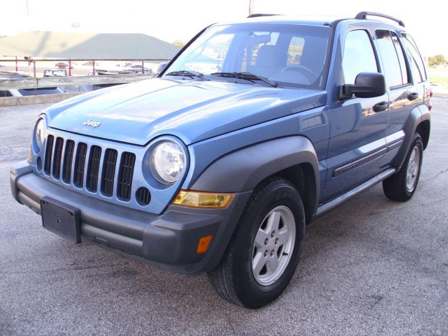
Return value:
<svg viewBox="0 0 448 336">
<path fill-rule="evenodd" d="M 260 285 L 252 271 L 254 240 L 263 219 L 279 206 L 289 208 L 293 214 L 293 250 L 281 276 L 272 284 Z M 304 237 L 305 211 L 299 193 L 288 180 L 270 177 L 255 188 L 223 258 L 214 270 L 208 272 L 208 278 L 216 292 L 228 302 L 251 309 L 265 306 L 279 297 L 293 277 L 302 253 Z M 284 255 L 288 254 L 281 254 Z"/>
</svg>

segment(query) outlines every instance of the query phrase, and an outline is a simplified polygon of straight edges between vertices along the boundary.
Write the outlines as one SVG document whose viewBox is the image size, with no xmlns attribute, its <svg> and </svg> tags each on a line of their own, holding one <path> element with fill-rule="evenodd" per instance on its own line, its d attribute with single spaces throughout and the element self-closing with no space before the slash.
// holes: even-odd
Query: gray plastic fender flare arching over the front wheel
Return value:
<svg viewBox="0 0 448 336">
<path fill-rule="evenodd" d="M 191 189 L 212 192 L 252 190 L 272 174 L 303 163 L 310 164 L 314 171 L 315 213 L 319 204 L 319 163 L 313 144 L 303 136 L 268 140 L 226 154 L 210 164 Z"/>
</svg>

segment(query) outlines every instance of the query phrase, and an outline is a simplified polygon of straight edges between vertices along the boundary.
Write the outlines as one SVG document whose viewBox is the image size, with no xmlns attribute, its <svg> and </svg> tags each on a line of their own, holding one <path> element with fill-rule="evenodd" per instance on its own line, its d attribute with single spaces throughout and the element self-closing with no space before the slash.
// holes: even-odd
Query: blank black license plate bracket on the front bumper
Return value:
<svg viewBox="0 0 448 336">
<path fill-rule="evenodd" d="M 56 199 L 45 196 L 40 199 L 42 226 L 60 237 L 81 242 L 81 211 Z"/>
</svg>

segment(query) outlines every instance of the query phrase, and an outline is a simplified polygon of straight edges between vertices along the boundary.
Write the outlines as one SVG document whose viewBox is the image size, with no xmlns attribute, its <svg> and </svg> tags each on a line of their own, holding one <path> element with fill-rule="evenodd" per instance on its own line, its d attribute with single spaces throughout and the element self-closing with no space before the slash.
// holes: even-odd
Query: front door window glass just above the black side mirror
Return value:
<svg viewBox="0 0 448 336">
<path fill-rule="evenodd" d="M 378 72 L 378 67 L 367 32 L 353 30 L 345 37 L 340 84 L 354 84 L 361 72 Z"/>
</svg>

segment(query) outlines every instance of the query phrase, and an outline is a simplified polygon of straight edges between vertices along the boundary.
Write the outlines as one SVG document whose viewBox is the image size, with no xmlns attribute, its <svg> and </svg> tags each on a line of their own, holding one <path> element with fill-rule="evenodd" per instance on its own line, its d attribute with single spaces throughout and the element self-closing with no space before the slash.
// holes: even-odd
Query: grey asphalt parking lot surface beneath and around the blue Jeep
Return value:
<svg viewBox="0 0 448 336">
<path fill-rule="evenodd" d="M 307 227 L 284 294 L 260 310 L 224 302 L 207 277 L 183 276 L 42 228 L 11 196 L 48 105 L 0 108 L 0 335 L 447 335 L 448 99 L 414 198 L 381 185 Z"/>
</svg>

